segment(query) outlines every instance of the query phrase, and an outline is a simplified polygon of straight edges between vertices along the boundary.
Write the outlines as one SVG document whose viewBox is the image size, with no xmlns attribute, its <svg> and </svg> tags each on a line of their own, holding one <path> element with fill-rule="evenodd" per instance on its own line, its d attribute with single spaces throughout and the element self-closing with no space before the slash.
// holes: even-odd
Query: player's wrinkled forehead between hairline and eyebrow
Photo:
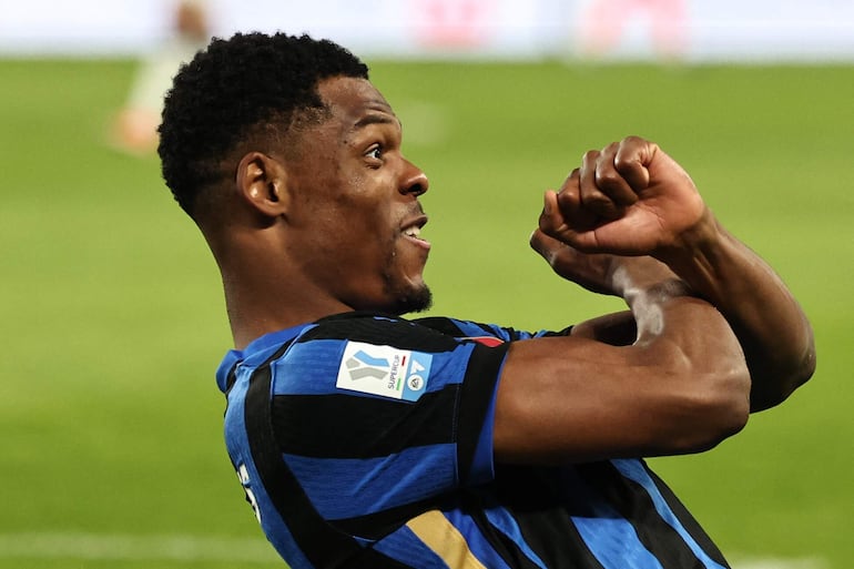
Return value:
<svg viewBox="0 0 854 569">
<path fill-rule="evenodd" d="M 326 79 L 317 85 L 317 92 L 332 111 L 332 116 L 338 119 L 345 130 L 377 121 L 399 124 L 392 105 L 366 79 Z"/>
</svg>

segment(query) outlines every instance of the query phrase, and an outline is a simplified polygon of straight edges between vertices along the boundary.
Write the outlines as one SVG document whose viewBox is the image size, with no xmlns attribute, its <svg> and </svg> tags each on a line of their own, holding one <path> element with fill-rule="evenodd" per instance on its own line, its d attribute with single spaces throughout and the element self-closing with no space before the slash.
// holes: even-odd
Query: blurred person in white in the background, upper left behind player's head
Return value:
<svg viewBox="0 0 854 569">
<path fill-rule="evenodd" d="M 140 62 L 124 106 L 113 123 L 111 142 L 132 154 L 150 154 L 157 146 L 163 95 L 181 63 L 203 49 L 210 37 L 209 11 L 202 0 L 176 2 L 169 39 Z"/>
</svg>

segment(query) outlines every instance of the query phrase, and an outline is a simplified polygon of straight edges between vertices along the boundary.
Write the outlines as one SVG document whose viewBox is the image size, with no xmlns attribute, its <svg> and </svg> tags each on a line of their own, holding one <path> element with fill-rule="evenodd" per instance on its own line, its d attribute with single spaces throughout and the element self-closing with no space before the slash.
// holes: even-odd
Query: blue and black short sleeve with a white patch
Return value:
<svg viewBox="0 0 854 569">
<path fill-rule="evenodd" d="M 495 393 L 507 345 L 383 316 L 327 318 L 272 363 L 283 457 L 326 519 L 440 499 L 492 476 Z"/>
</svg>

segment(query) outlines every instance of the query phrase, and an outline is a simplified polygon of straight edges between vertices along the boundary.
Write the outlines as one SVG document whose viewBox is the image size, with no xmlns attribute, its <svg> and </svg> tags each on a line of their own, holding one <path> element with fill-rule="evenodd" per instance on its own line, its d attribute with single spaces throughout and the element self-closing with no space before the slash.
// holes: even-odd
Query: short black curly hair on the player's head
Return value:
<svg viewBox="0 0 854 569">
<path fill-rule="evenodd" d="M 368 68 L 328 40 L 284 33 L 214 38 L 183 64 L 157 129 L 163 179 L 181 207 L 193 216 L 200 191 L 221 179 L 220 163 L 254 129 L 323 109 L 317 84 L 332 77 L 368 79 Z"/>
</svg>

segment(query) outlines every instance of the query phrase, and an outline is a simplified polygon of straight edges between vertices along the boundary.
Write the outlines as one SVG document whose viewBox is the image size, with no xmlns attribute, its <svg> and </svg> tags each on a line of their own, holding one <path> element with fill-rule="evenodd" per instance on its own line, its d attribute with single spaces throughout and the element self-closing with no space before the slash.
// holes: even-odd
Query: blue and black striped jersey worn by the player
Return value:
<svg viewBox="0 0 854 569">
<path fill-rule="evenodd" d="M 350 313 L 230 352 L 226 445 L 267 539 L 293 569 L 728 567 L 640 459 L 494 463 L 509 343 L 562 333 Z"/>
</svg>

